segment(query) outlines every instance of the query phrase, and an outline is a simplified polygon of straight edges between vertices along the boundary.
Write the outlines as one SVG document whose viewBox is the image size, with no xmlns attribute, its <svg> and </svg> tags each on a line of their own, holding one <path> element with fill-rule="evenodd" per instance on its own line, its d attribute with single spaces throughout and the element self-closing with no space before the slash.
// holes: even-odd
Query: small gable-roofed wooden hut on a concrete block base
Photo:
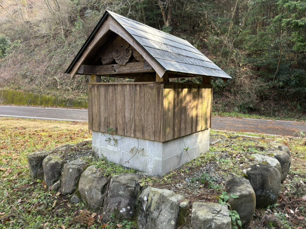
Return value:
<svg viewBox="0 0 306 229">
<path fill-rule="evenodd" d="M 154 176 L 209 150 L 211 77 L 231 78 L 186 40 L 110 11 L 66 73 L 91 75 L 93 154 Z M 101 83 L 101 76 L 134 81 Z M 187 77 L 203 83 L 169 82 Z"/>
</svg>

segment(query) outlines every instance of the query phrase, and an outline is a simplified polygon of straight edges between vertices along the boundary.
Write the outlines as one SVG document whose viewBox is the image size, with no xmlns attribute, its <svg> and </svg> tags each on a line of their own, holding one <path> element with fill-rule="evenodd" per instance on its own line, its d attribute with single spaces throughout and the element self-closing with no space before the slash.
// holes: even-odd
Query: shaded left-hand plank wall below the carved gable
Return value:
<svg viewBox="0 0 306 229">
<path fill-rule="evenodd" d="M 88 87 L 89 129 L 104 133 L 114 129 L 114 134 L 162 141 L 162 84 L 92 83 Z"/>
</svg>

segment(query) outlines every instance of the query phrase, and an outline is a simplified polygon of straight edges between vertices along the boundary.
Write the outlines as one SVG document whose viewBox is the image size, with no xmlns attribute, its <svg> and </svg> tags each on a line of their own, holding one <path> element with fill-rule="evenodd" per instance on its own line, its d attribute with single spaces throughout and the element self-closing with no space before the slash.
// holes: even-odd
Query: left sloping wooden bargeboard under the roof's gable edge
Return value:
<svg viewBox="0 0 306 229">
<path fill-rule="evenodd" d="M 72 70 L 69 72 L 71 78 L 77 73 L 81 65 L 83 64 L 84 60 L 90 53 L 90 51 L 95 47 L 95 45 L 99 42 L 99 40 L 106 35 L 106 33 L 110 30 L 110 17 L 108 17 L 103 25 L 100 27 L 99 31 L 96 33 L 95 38 L 89 43 L 87 48 L 84 50 L 82 56 L 80 56 L 79 60 L 73 66 Z"/>
</svg>

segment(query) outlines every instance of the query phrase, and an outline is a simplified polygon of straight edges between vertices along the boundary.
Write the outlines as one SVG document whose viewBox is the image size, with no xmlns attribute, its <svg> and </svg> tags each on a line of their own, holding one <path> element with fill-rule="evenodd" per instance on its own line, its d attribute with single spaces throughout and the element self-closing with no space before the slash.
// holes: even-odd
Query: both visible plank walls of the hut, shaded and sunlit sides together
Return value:
<svg viewBox="0 0 306 229">
<path fill-rule="evenodd" d="M 93 83 L 88 86 L 93 131 L 168 141 L 211 127 L 211 85 Z"/>
</svg>

